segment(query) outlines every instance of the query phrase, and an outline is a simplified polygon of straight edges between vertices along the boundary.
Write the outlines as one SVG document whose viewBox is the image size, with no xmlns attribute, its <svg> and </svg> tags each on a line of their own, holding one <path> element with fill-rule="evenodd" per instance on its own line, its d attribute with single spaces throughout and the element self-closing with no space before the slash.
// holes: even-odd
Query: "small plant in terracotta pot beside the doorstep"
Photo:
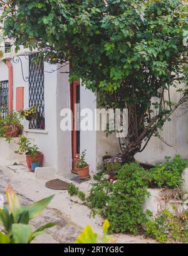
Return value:
<svg viewBox="0 0 188 256">
<path fill-rule="evenodd" d="M 76 163 L 76 171 L 78 172 L 80 179 L 86 179 L 90 177 L 90 166 L 85 161 L 86 150 L 81 152 L 80 159 Z"/>
</svg>

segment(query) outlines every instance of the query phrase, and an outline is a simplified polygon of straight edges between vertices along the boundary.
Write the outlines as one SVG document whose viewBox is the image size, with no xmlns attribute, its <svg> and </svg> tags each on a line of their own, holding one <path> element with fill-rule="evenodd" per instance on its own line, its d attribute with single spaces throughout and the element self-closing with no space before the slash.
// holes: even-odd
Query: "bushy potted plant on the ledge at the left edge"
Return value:
<svg viewBox="0 0 188 256">
<path fill-rule="evenodd" d="M 21 134 L 23 125 L 21 124 L 18 114 L 12 112 L 6 118 L 0 115 L 0 136 L 6 138 L 18 137 Z"/>
</svg>

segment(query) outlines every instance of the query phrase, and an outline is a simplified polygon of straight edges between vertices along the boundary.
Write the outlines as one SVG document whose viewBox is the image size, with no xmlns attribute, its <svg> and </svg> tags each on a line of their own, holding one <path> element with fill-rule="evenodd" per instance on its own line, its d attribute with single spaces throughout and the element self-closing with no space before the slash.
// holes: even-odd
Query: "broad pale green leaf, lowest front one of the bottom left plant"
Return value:
<svg viewBox="0 0 188 256">
<path fill-rule="evenodd" d="M 14 243 L 28 243 L 32 235 L 31 225 L 13 224 L 12 229 Z"/>
</svg>

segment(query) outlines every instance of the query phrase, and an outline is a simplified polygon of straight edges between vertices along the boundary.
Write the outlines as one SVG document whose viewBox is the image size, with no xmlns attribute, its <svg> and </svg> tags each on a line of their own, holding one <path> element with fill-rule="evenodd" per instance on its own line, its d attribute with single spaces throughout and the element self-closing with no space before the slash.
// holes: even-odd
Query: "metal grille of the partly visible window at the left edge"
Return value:
<svg viewBox="0 0 188 256">
<path fill-rule="evenodd" d="M 9 82 L 0 82 L 0 114 L 3 118 L 6 118 L 9 114 Z"/>
</svg>

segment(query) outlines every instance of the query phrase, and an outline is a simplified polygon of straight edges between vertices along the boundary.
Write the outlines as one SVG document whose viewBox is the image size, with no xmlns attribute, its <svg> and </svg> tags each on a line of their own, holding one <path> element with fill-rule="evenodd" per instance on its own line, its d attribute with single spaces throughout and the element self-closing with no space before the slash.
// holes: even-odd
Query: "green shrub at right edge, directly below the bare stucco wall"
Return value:
<svg viewBox="0 0 188 256">
<path fill-rule="evenodd" d="M 182 160 L 180 155 L 175 155 L 174 159 L 165 157 L 164 163 L 156 164 L 150 170 L 154 183 L 159 188 L 178 188 L 184 184 L 182 172 L 187 166 L 188 160 Z"/>
</svg>

